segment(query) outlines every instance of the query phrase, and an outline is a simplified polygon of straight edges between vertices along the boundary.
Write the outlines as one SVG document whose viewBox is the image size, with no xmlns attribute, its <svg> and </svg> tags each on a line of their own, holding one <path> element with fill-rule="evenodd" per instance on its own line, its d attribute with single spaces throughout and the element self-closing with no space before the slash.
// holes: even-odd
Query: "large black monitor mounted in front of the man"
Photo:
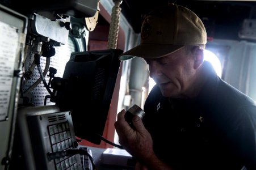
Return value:
<svg viewBox="0 0 256 170">
<path fill-rule="evenodd" d="M 66 63 L 64 86 L 56 105 L 70 111 L 75 135 L 96 145 L 101 142 L 120 60 L 119 49 L 75 52 Z"/>
</svg>

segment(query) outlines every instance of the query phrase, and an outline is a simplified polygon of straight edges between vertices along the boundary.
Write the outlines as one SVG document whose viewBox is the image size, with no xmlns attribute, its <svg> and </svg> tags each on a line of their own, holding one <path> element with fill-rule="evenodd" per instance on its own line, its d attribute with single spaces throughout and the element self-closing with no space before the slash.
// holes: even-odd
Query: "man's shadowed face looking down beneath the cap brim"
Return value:
<svg viewBox="0 0 256 170">
<path fill-rule="evenodd" d="M 163 96 L 186 97 L 194 80 L 194 59 L 184 49 L 155 59 L 145 59 L 149 76 L 160 87 Z"/>
</svg>

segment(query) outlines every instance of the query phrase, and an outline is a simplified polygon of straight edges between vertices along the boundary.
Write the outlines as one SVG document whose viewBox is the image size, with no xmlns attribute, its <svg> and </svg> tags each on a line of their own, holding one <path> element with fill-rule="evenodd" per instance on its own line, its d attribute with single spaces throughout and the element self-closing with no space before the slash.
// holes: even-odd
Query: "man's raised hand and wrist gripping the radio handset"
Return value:
<svg viewBox="0 0 256 170">
<path fill-rule="evenodd" d="M 145 129 L 141 118 L 139 116 L 132 118 L 133 129 L 125 121 L 124 114 L 125 110 L 117 114 L 115 128 L 119 136 L 119 143 L 137 160 L 136 170 L 173 170 L 154 154 L 152 137 Z"/>
</svg>

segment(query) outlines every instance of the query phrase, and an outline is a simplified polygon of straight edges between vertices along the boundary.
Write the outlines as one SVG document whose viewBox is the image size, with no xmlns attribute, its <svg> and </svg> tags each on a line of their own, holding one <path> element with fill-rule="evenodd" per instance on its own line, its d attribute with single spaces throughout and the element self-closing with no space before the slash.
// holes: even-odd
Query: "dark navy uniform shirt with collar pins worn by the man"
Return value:
<svg viewBox="0 0 256 170">
<path fill-rule="evenodd" d="M 256 169 L 256 105 L 225 83 L 210 63 L 194 99 L 171 99 L 154 86 L 145 102 L 146 129 L 158 158 L 174 169 Z"/>
</svg>

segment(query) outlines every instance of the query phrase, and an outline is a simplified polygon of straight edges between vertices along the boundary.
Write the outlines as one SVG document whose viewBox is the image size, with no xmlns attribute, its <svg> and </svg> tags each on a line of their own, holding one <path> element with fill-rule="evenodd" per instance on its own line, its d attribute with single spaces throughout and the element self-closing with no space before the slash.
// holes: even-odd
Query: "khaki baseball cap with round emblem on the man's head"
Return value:
<svg viewBox="0 0 256 170">
<path fill-rule="evenodd" d="M 202 20 L 186 7 L 170 3 L 151 11 L 141 27 L 140 45 L 121 54 L 121 61 L 133 57 L 160 58 L 185 45 L 206 44 Z"/>
</svg>

